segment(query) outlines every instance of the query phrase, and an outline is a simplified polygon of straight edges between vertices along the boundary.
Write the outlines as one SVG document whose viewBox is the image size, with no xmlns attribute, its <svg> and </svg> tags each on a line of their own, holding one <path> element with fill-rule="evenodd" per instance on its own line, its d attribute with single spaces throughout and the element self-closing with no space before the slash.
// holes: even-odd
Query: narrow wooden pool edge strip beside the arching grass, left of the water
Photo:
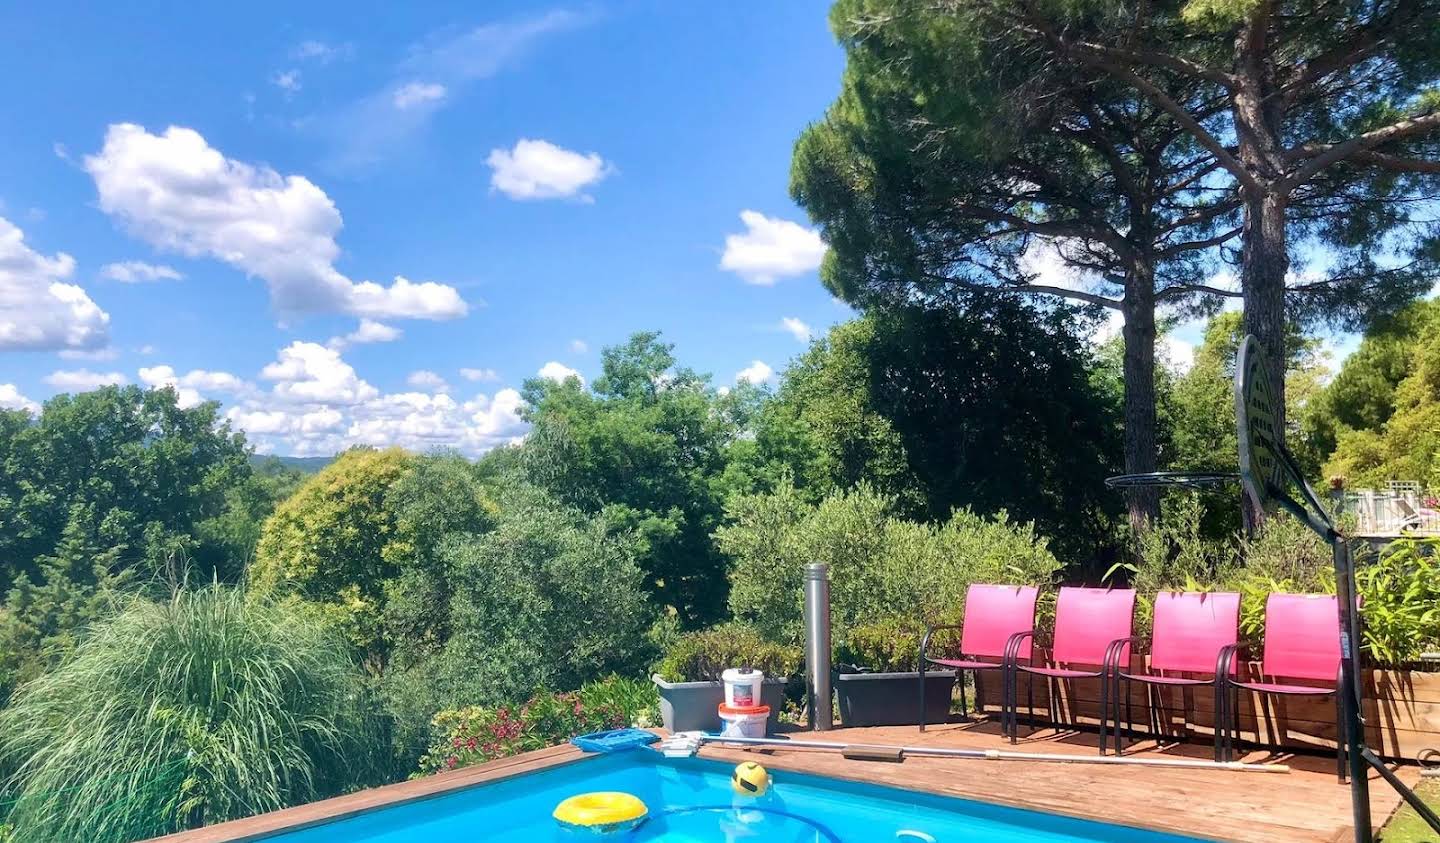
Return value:
<svg viewBox="0 0 1440 843">
<path fill-rule="evenodd" d="M 511 755 L 510 758 L 497 758 L 495 761 L 487 761 L 474 767 L 436 772 L 423 778 L 386 784 L 291 808 L 281 808 L 266 814 L 255 814 L 253 817 L 229 820 L 189 831 L 176 831 L 164 837 L 151 837 L 143 843 L 248 843 L 251 840 L 264 840 L 276 834 L 312 829 L 382 808 L 393 808 L 449 795 L 475 785 L 528 772 L 540 772 L 589 758 L 599 757 L 582 752 L 570 744 L 562 744 L 559 746 Z"/>
</svg>

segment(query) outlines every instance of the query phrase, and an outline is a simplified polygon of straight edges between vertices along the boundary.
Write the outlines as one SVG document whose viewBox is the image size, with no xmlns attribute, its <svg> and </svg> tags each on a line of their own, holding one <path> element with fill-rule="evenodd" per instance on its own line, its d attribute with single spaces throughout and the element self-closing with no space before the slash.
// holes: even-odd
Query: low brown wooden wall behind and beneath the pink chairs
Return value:
<svg viewBox="0 0 1440 843">
<path fill-rule="evenodd" d="M 1136 669 L 1140 660 L 1136 659 Z M 1243 676 L 1259 679 L 1260 664 L 1241 666 Z M 1020 718 L 1027 709 L 1025 674 L 1020 679 Z M 1034 677 L 1034 715 L 1041 725 L 1050 718 L 1050 683 Z M 1057 682 L 1060 725 L 1097 728 L 1100 689 L 1093 679 Z M 985 683 L 978 692 L 978 708 L 999 712 L 998 682 Z M 1175 739 L 1208 742 L 1215 728 L 1215 703 L 1210 687 L 1148 687 L 1130 683 L 1133 726 Z M 1122 718 L 1125 716 L 1122 706 Z M 1369 670 L 1365 674 L 1367 742 L 1382 758 L 1414 761 L 1426 748 L 1440 748 L 1440 673 L 1418 670 Z M 1021 729 L 1025 726 L 1022 725 Z M 1335 748 L 1333 697 L 1274 697 L 1240 693 L 1240 736 L 1280 749 Z"/>
</svg>

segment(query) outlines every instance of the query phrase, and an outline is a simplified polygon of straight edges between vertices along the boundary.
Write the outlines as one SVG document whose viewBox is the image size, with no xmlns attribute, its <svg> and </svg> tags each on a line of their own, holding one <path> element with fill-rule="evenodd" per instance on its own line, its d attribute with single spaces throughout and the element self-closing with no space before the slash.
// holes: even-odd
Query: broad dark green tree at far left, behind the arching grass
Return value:
<svg viewBox="0 0 1440 843">
<path fill-rule="evenodd" d="M 4 411 L 0 589 L 37 575 L 40 559 L 76 530 L 114 550 L 117 568 L 148 576 L 193 555 L 199 525 L 219 516 L 228 490 L 249 476 L 245 438 L 220 419 L 219 405 L 181 409 L 173 389 L 58 395 L 35 419 Z"/>
</svg>

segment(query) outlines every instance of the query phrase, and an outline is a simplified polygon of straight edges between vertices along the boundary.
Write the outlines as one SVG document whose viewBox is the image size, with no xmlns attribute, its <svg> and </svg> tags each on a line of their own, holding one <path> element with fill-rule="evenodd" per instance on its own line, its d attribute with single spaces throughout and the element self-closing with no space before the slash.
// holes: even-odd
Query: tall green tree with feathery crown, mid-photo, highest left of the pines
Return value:
<svg viewBox="0 0 1440 843">
<path fill-rule="evenodd" d="M 629 533 L 647 588 L 683 623 L 716 620 L 726 581 L 710 532 L 720 522 L 726 452 L 740 431 L 707 378 L 677 367 L 660 334 L 635 334 L 602 359 L 589 391 L 573 378 L 526 383 L 534 425 L 523 447 L 526 474 Z"/>
</svg>

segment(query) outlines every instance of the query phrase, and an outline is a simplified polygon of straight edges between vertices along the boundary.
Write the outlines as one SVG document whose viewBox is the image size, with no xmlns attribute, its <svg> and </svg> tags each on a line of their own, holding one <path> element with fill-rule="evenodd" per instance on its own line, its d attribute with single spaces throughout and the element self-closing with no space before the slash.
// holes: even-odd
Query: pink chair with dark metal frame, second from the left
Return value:
<svg viewBox="0 0 1440 843">
<path fill-rule="evenodd" d="M 1031 637 L 1032 633 L 1020 633 L 1012 637 L 1017 641 L 1011 647 L 1005 672 L 1005 699 L 1002 703 L 1002 723 L 1009 732 L 1009 742 L 1018 738 L 1018 683 L 1020 673 L 1031 676 L 1027 683 L 1030 725 L 1034 728 L 1035 715 L 1035 679 L 1045 677 L 1054 686 L 1056 680 L 1064 679 L 1099 679 L 1100 680 L 1100 755 L 1104 755 L 1106 731 L 1103 712 L 1107 710 L 1106 699 L 1110 689 L 1112 670 L 1119 664 L 1128 664 L 1130 659 L 1132 623 L 1135 620 L 1135 589 L 1133 588 L 1061 588 L 1056 604 L 1056 634 L 1050 647 L 1050 664 L 1034 663 L 1021 664 L 1020 643 Z M 1038 648 L 1038 647 L 1037 647 Z M 1051 687 L 1051 719 L 1058 719 L 1054 708 L 1056 695 Z M 1008 718 L 1005 716 L 1008 713 Z"/>
</svg>

